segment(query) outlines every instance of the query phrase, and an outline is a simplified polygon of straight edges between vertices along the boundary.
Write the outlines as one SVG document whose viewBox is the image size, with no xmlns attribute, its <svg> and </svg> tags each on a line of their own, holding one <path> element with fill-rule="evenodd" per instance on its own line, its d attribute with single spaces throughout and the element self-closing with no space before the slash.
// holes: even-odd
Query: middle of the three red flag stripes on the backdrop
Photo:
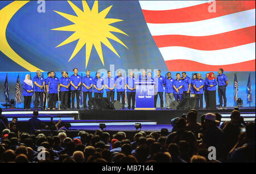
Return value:
<svg viewBox="0 0 256 174">
<path fill-rule="evenodd" d="M 219 50 L 255 43 L 255 26 L 210 36 L 162 35 L 153 38 L 158 48 L 184 46 L 197 50 Z"/>
</svg>

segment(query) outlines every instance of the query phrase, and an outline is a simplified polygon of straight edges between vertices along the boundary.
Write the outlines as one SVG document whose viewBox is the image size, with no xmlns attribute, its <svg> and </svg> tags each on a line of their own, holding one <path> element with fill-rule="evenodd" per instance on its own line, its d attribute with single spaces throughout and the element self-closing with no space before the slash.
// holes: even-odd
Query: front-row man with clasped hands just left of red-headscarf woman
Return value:
<svg viewBox="0 0 256 174">
<path fill-rule="evenodd" d="M 197 97 L 197 108 L 203 109 L 203 94 L 204 94 L 204 80 L 201 79 L 201 74 L 197 73 L 197 80 L 195 80 L 193 84 L 193 88 L 195 88 L 195 94 Z M 199 107 L 200 101 L 200 107 Z"/>
</svg>

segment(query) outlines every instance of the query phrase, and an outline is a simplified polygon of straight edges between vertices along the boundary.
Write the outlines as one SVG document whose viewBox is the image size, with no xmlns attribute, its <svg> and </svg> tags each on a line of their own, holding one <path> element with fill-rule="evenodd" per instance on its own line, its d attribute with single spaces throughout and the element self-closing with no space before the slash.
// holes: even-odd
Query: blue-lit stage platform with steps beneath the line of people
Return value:
<svg viewBox="0 0 256 174">
<path fill-rule="evenodd" d="M 218 112 L 222 115 L 222 122 L 230 120 L 230 113 L 233 108 L 228 109 L 199 109 L 197 121 L 200 122 L 202 114 L 208 112 Z M 188 110 L 167 110 L 157 108 L 154 111 L 146 110 L 43 110 L 39 111 L 38 118 L 43 122 L 53 121 L 71 124 L 70 130 L 96 130 L 100 124 L 105 124 L 107 131 L 135 131 L 134 125 L 139 122 L 142 124 L 143 131 L 160 131 L 162 128 L 171 131 L 171 120 L 180 117 Z M 240 108 L 241 116 L 245 121 L 255 121 L 255 107 Z M 21 131 L 28 131 L 28 120 L 32 117 L 33 111 L 24 111 L 23 109 L 3 109 L 2 114 L 11 121 L 13 117 L 18 118 Z"/>
</svg>

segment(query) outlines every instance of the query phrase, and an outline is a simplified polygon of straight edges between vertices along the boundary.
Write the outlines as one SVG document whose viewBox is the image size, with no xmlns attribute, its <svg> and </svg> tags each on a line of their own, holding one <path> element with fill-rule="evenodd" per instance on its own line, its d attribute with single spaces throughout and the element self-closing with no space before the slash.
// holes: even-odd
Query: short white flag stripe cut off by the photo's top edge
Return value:
<svg viewBox="0 0 256 174">
<path fill-rule="evenodd" d="M 173 10 L 200 5 L 212 1 L 139 1 L 143 10 Z"/>
</svg>

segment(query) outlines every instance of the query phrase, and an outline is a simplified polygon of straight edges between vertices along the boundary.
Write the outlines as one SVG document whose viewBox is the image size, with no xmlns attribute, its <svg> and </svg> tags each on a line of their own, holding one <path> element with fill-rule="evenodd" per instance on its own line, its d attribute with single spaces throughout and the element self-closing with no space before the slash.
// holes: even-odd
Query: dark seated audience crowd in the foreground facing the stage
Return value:
<svg viewBox="0 0 256 174">
<path fill-rule="evenodd" d="M 1 115 L 0 125 L 7 125 L 1 130 L 0 162 L 255 162 L 255 122 L 244 122 L 240 111 L 232 111 L 231 121 L 221 124 L 221 114 L 203 114 L 199 123 L 197 110 L 191 109 L 186 115 L 172 119 L 171 123 L 171 132 L 137 131 L 133 139 L 127 139 L 123 131 L 110 135 L 102 130 L 94 134 L 81 130 L 77 137 L 67 137 L 63 129 L 55 136 L 45 135 L 42 130 L 30 134 L 22 132 L 18 119 L 7 124 L 5 116 Z"/>
</svg>

